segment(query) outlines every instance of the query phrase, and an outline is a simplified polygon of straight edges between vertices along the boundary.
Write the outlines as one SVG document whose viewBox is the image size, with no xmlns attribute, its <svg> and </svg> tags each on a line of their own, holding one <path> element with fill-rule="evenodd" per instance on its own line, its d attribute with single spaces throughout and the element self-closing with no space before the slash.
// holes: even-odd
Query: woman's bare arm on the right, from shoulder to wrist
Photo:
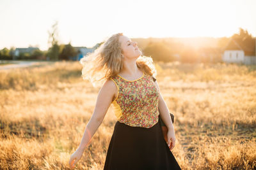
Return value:
<svg viewBox="0 0 256 170">
<path fill-rule="evenodd" d="M 168 129 L 174 129 L 172 119 L 171 119 L 171 116 L 170 116 L 170 111 L 168 110 L 168 107 L 166 106 L 166 103 L 163 99 L 163 96 L 161 95 L 158 83 L 157 83 L 157 81 L 154 81 L 154 83 L 156 84 L 156 87 L 157 87 L 158 92 L 159 92 L 158 108 L 159 108 L 160 116 L 161 116 L 164 124 L 166 125 L 166 127 Z"/>
</svg>

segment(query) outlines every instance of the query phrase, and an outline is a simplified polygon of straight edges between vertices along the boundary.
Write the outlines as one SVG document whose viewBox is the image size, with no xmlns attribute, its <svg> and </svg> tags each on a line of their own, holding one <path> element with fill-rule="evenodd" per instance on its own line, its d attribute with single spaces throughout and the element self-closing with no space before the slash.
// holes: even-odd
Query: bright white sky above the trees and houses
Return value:
<svg viewBox="0 0 256 170">
<path fill-rule="evenodd" d="M 49 48 L 52 25 L 72 46 L 94 46 L 112 34 L 129 38 L 256 36 L 256 0 L 0 0 L 0 50 Z"/>
</svg>

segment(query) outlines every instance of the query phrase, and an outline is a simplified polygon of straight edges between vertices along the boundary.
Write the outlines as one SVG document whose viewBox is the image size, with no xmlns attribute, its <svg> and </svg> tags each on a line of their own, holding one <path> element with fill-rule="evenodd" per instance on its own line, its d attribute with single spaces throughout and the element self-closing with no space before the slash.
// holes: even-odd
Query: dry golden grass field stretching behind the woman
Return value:
<svg viewBox="0 0 256 170">
<path fill-rule="evenodd" d="M 156 63 L 175 115 L 182 169 L 256 168 L 256 67 Z M 79 62 L 0 72 L 0 169 L 69 169 L 97 92 Z M 116 122 L 110 107 L 77 169 L 102 169 Z"/>
</svg>

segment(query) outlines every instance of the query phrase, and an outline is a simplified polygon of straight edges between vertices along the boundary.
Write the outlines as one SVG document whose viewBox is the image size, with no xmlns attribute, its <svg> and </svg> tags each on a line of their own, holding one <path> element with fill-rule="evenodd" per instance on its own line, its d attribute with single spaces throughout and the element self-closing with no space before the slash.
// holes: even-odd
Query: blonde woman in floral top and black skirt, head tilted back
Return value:
<svg viewBox="0 0 256 170">
<path fill-rule="evenodd" d="M 81 143 L 70 157 L 73 168 L 102 123 L 110 104 L 117 122 L 104 164 L 106 169 L 180 169 L 171 150 L 175 132 L 157 85 L 150 57 L 141 56 L 137 43 L 114 34 L 95 52 L 81 59 L 83 78 L 101 83 L 92 118 Z M 97 79 L 98 78 L 98 79 Z M 99 85 L 99 84 L 98 84 Z M 159 116 L 168 127 L 164 140 Z"/>
</svg>

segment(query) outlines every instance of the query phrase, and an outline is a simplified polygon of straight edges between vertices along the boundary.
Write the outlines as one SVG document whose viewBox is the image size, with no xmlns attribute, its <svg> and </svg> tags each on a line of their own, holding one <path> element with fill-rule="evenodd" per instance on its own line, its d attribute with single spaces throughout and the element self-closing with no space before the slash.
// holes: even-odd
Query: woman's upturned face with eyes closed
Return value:
<svg viewBox="0 0 256 170">
<path fill-rule="evenodd" d="M 119 41 L 122 46 L 122 55 L 125 58 L 138 58 L 141 55 L 141 50 L 137 46 L 137 42 L 131 41 L 127 36 L 120 36 Z"/>
</svg>

